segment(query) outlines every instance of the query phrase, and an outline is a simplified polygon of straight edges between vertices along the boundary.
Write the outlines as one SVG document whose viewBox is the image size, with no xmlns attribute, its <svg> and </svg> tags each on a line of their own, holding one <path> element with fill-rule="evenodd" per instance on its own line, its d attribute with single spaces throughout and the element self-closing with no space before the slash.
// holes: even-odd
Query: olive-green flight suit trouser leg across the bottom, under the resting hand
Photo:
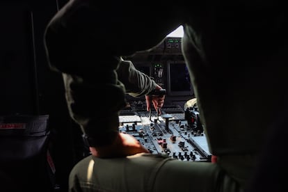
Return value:
<svg viewBox="0 0 288 192">
<path fill-rule="evenodd" d="M 145 153 L 115 159 L 91 155 L 72 169 L 69 182 L 70 191 L 83 192 L 241 191 L 216 163 Z"/>
</svg>

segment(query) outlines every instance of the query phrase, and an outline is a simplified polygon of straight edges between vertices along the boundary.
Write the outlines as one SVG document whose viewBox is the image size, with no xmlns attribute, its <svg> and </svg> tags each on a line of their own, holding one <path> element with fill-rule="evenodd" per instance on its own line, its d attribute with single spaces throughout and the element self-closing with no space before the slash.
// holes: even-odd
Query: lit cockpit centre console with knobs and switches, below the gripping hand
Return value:
<svg viewBox="0 0 288 192">
<path fill-rule="evenodd" d="M 133 102 L 121 111 L 119 131 L 134 136 L 152 154 L 165 153 L 179 161 L 211 161 L 197 109 L 184 111 L 170 105 L 163 106 L 161 115 L 156 111 L 150 115 L 145 107 L 145 102 Z"/>
</svg>

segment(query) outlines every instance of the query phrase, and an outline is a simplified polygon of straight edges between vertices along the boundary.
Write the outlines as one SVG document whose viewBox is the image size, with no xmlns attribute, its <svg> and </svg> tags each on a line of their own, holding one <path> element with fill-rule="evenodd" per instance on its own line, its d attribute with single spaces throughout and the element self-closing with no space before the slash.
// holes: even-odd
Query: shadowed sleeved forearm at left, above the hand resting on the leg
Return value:
<svg viewBox="0 0 288 192">
<path fill-rule="evenodd" d="M 63 74 L 63 80 L 70 116 L 86 134 L 89 145 L 110 145 L 118 134 L 118 111 L 126 106 L 124 88 L 70 74 Z"/>
</svg>

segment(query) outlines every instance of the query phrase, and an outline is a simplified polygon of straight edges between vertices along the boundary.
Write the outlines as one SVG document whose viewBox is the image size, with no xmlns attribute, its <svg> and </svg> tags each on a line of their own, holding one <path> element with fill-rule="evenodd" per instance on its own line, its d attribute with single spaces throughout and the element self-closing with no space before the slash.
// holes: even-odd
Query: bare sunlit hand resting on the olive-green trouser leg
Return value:
<svg viewBox="0 0 288 192">
<path fill-rule="evenodd" d="M 141 152 L 150 153 L 134 136 L 123 133 L 119 133 L 109 146 L 89 147 L 89 149 L 95 157 L 101 158 L 127 157 Z"/>
</svg>

